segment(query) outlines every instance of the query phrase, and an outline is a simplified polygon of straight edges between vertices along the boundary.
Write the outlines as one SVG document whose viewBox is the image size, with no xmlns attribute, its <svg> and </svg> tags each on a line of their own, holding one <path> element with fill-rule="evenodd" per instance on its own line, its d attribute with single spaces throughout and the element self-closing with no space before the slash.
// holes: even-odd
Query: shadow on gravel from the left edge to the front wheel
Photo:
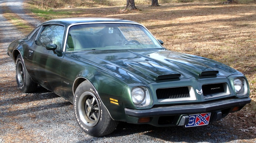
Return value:
<svg viewBox="0 0 256 143">
<path fill-rule="evenodd" d="M 55 93 L 41 86 L 38 86 L 36 91 L 33 93 L 22 93 L 15 88 L 17 87 L 12 87 L 13 89 L 12 93 L 14 92 L 13 94 L 6 94 L 5 95 L 6 97 L 0 100 L 1 110 L 4 111 L 2 116 L 18 116 L 23 114 L 24 112 L 30 113 L 37 110 L 62 107 L 62 106 L 72 104 L 69 101 L 65 100 L 64 98 L 56 95 Z M 45 102 L 48 102 L 49 99 L 55 99 L 55 98 L 59 98 L 59 99 L 56 99 L 56 100 L 59 100 L 59 102 L 44 104 Z M 19 107 L 19 105 L 22 105 L 24 103 L 26 103 L 27 106 L 29 106 L 28 104 L 32 104 L 33 106 L 32 107 L 30 106 L 29 108 L 26 108 L 26 109 L 23 109 L 23 108 L 20 108 L 20 109 L 17 108 L 15 110 L 10 109 L 10 108 L 14 108 L 15 106 Z"/>
</svg>

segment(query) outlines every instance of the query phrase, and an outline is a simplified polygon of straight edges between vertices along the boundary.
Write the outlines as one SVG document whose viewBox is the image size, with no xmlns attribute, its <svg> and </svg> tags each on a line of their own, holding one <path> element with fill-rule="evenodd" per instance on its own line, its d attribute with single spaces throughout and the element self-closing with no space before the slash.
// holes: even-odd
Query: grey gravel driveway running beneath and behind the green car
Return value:
<svg viewBox="0 0 256 143">
<path fill-rule="evenodd" d="M 2 15 L 1 7 L 37 25 L 38 20 L 23 11 L 23 0 L 0 0 L 0 142 L 254 142 L 228 124 L 228 120 L 194 128 L 133 125 L 120 123 L 105 137 L 84 134 L 76 125 L 73 105 L 38 87 L 37 92 L 21 93 L 15 81 L 15 65 L 6 55 L 7 47 L 24 36 Z M 229 115 L 232 116 L 232 115 Z"/>
</svg>

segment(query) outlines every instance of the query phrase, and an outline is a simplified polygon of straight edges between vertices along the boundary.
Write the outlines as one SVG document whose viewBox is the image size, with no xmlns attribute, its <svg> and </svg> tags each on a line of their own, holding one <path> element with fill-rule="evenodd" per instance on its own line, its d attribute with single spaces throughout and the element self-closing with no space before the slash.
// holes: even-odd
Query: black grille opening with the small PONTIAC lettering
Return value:
<svg viewBox="0 0 256 143">
<path fill-rule="evenodd" d="M 202 86 L 203 96 L 205 98 L 213 97 L 216 95 L 223 95 L 225 91 L 226 83 L 207 84 Z"/>
</svg>

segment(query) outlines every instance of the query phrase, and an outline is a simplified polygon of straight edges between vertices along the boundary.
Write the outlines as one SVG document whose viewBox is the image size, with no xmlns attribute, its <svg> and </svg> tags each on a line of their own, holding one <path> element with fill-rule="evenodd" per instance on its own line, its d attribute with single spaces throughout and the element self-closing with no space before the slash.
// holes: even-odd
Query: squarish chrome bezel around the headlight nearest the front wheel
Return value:
<svg viewBox="0 0 256 143">
<path fill-rule="evenodd" d="M 136 91 L 136 90 L 144 91 L 143 97 L 141 95 L 141 97 L 140 97 L 141 100 L 139 100 L 138 102 L 136 102 L 136 100 L 135 100 L 136 97 L 135 97 L 134 91 Z M 133 101 L 133 103 L 136 107 L 145 107 L 145 106 L 148 106 L 150 104 L 150 94 L 149 94 L 149 90 L 147 89 L 147 87 L 134 87 L 134 88 L 132 88 L 131 98 L 132 98 L 132 101 Z"/>
</svg>

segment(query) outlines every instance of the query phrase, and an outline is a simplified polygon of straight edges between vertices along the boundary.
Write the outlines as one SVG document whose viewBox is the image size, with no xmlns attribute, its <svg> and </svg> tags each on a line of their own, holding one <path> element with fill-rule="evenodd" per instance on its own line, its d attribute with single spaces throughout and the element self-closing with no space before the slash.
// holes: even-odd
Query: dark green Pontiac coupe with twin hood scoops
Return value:
<svg viewBox="0 0 256 143">
<path fill-rule="evenodd" d="M 92 136 L 112 133 L 118 121 L 207 125 L 251 102 L 241 72 L 162 44 L 133 21 L 68 18 L 38 25 L 7 54 L 22 92 L 40 85 L 64 97 Z"/>
</svg>

